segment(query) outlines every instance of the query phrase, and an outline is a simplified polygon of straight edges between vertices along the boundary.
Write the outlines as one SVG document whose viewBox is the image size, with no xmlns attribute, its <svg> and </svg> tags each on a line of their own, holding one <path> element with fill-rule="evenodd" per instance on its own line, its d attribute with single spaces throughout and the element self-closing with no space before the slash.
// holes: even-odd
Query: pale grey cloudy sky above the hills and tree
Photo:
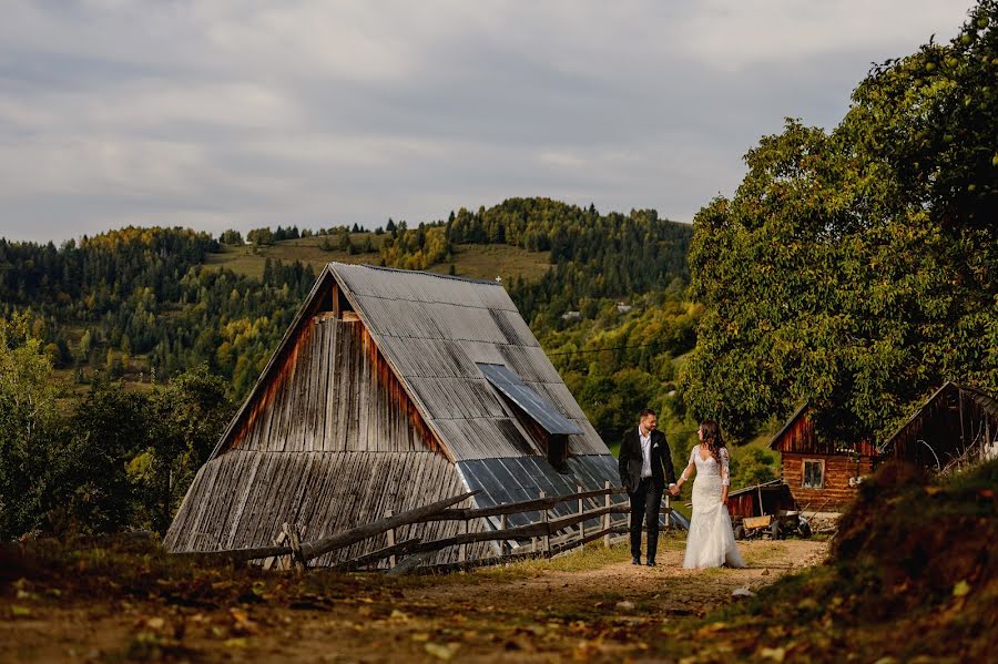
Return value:
<svg viewBox="0 0 998 664">
<path fill-rule="evenodd" d="M 0 236 L 731 195 L 971 0 L 4 0 Z"/>
</svg>

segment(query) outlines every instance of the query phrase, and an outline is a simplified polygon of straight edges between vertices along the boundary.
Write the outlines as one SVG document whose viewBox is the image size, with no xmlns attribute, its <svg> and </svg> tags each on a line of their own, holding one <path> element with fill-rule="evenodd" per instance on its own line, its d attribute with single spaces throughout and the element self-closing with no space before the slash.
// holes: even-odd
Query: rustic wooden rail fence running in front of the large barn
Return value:
<svg viewBox="0 0 998 664">
<path fill-rule="evenodd" d="M 387 560 L 389 573 L 401 574 L 416 570 L 438 551 L 447 546 L 460 546 L 458 562 L 424 568 L 424 570 L 457 571 L 531 558 L 551 558 L 601 538 L 603 539 L 603 545 L 610 546 L 612 535 L 627 533 L 629 530 L 627 523 L 613 525 L 611 519 L 614 514 L 630 513 L 630 507 L 627 503 L 618 502 L 613 504 L 611 501 L 612 496 L 624 492 L 623 488 L 611 487 L 610 482 L 607 482 L 603 489 L 594 491 L 583 491 L 581 487 L 579 487 L 577 492 L 566 496 L 547 496 L 541 491 L 538 498 L 533 500 L 499 504 L 490 508 L 451 507 L 478 493 L 477 491 L 471 491 L 399 514 L 393 514 L 389 511 L 384 519 L 313 542 L 302 542 L 297 528 L 294 524 L 285 523 L 273 546 L 227 551 L 195 551 L 183 555 L 224 558 L 233 562 L 262 560 L 265 568 L 294 566 L 295 569 L 304 570 L 308 565 L 308 561 L 319 555 L 387 532 L 387 546 L 340 562 L 333 569 L 352 571 L 370 566 L 383 566 L 381 561 Z M 604 498 L 602 507 L 590 510 L 584 509 L 587 499 L 600 497 Z M 549 512 L 556 504 L 562 502 L 577 502 L 578 510 L 564 517 L 550 518 Z M 528 512 L 538 512 L 540 520 L 527 525 L 508 527 L 508 517 L 510 514 Z M 661 507 L 661 513 L 665 514 L 665 527 L 660 527 L 660 530 L 668 530 L 672 513 L 668 493 L 665 494 L 664 504 Z M 469 532 L 468 525 L 471 521 L 489 517 L 499 517 L 498 529 L 492 527 L 491 530 L 482 532 Z M 585 522 L 593 519 L 600 520 L 600 527 L 594 530 L 587 529 Z M 396 529 L 430 521 L 462 521 L 465 525 L 460 534 L 440 540 L 427 542 L 420 539 L 396 541 Z M 529 544 L 526 543 L 528 538 Z M 499 542 L 496 555 L 476 560 L 466 558 L 468 544 L 485 541 Z"/>
</svg>

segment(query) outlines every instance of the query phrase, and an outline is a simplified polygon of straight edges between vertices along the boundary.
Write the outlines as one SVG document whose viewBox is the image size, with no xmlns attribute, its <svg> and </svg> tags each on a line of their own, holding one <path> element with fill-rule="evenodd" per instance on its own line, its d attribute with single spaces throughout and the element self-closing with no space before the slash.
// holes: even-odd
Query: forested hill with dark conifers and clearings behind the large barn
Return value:
<svg viewBox="0 0 998 664">
<path fill-rule="evenodd" d="M 129 227 L 61 247 L 0 238 L 0 314 L 27 311 L 31 334 L 78 385 L 95 376 L 150 384 L 206 364 L 238 400 L 328 261 L 501 276 L 543 338 L 611 309 L 617 325 L 618 300 L 661 299 L 670 285 L 678 297 L 691 237 L 689 225 L 654 211 L 603 215 L 513 198 L 369 233 L 261 228 L 244 242 L 236 232 Z M 568 310 L 585 316 L 566 321 Z M 692 336 L 680 346 L 674 354 L 692 348 Z"/>
</svg>

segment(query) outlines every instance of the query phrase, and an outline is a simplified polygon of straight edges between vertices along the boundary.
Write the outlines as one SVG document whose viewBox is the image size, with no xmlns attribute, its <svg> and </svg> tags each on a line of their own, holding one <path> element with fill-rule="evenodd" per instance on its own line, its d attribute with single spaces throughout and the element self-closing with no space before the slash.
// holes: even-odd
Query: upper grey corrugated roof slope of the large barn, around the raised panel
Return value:
<svg viewBox="0 0 998 664">
<path fill-rule="evenodd" d="M 528 412 L 568 433 L 570 453 L 610 453 L 498 283 L 342 263 L 326 269 L 456 461 L 542 453 L 528 447 L 480 365 L 518 376 L 539 397 Z"/>
</svg>

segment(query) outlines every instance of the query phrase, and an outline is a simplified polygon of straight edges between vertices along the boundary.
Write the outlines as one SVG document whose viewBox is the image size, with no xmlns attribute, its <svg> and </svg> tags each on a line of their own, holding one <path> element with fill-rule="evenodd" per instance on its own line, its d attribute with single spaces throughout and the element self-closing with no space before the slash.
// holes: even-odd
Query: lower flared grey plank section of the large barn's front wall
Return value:
<svg viewBox="0 0 998 664">
<path fill-rule="evenodd" d="M 208 461 L 166 533 L 171 551 L 217 551 L 273 543 L 285 522 L 312 541 L 465 491 L 446 459 L 422 452 L 266 452 L 232 450 Z M 470 500 L 457 507 L 471 507 Z M 457 534 L 462 524 L 439 521 L 404 527 L 397 541 Z M 471 532 L 480 521 L 469 523 Z M 329 565 L 387 545 L 383 534 L 327 553 Z M 483 555 L 488 544 L 470 545 Z M 455 562 L 457 548 L 434 562 Z"/>
</svg>

